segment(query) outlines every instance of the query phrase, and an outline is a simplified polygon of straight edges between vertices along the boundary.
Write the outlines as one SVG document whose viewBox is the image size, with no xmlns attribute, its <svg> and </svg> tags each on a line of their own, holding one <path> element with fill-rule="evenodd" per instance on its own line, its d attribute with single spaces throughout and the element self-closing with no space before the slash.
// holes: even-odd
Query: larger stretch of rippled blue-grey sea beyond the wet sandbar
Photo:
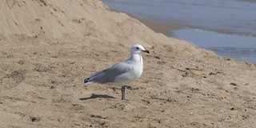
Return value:
<svg viewBox="0 0 256 128">
<path fill-rule="evenodd" d="M 147 20 L 157 21 L 164 24 L 178 25 L 186 27 L 187 29 L 193 30 L 206 30 L 210 32 L 216 32 L 219 34 L 231 34 L 231 35 L 239 35 L 245 37 L 256 37 L 254 31 L 254 17 L 250 16 L 251 11 L 248 11 L 248 7 L 254 9 L 256 5 L 251 6 L 251 0 L 239 0 L 233 4 L 231 2 L 224 2 L 226 6 L 222 6 L 220 2 L 213 2 L 211 4 L 204 5 L 203 2 L 148 2 L 147 4 L 150 6 L 145 6 L 142 3 L 139 6 L 134 6 L 136 2 L 118 2 L 118 1 L 102 1 L 110 6 L 111 9 L 125 12 L 126 14 L 132 14 L 135 18 L 146 18 Z M 158 4 L 157 4 L 158 3 Z M 183 3 L 183 4 L 182 4 Z M 156 6 L 154 6 L 156 4 Z M 166 14 L 168 8 L 166 6 L 174 6 L 177 4 L 178 8 L 172 7 L 170 10 L 176 13 Z M 204 5 L 202 10 L 198 10 L 200 8 L 199 5 Z M 242 5 L 239 5 L 242 4 Z M 219 8 L 218 8 L 218 6 Z M 162 7 L 161 7 L 162 6 Z M 239 8 L 241 6 L 241 8 Z M 159 8 L 158 11 L 157 8 Z M 186 7 L 190 7 L 189 10 Z M 184 9 L 182 9 L 184 8 Z M 153 10 L 154 9 L 154 10 Z M 182 10 L 180 10 L 182 9 Z M 218 10 L 214 15 L 216 17 L 211 17 L 206 13 L 207 10 Z M 220 10 L 226 10 L 225 12 L 221 12 Z M 245 11 L 245 14 L 242 12 Z M 190 12 L 194 12 L 192 16 Z M 186 15 L 187 14 L 187 15 Z M 231 14 L 231 17 L 229 16 Z M 178 16 L 181 15 L 181 16 Z M 235 15 L 236 17 L 232 17 Z M 239 16 L 239 18 L 237 18 Z M 231 20 L 232 19 L 232 20 Z M 236 20 L 237 19 L 237 20 Z M 241 19 L 241 20 L 238 20 Z M 230 21 L 231 20 L 231 21 Z M 237 22 L 234 22 L 237 21 Z"/>
</svg>

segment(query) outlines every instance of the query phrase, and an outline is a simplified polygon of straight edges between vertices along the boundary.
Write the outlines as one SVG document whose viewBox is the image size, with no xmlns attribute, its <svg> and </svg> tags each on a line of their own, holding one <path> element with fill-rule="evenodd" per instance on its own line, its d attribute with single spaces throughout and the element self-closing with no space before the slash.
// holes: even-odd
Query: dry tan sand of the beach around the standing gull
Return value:
<svg viewBox="0 0 256 128">
<path fill-rule="evenodd" d="M 0 2 L 0 127 L 254 127 L 256 68 L 155 33 L 97 0 Z M 144 72 L 82 79 L 142 44 Z"/>
</svg>

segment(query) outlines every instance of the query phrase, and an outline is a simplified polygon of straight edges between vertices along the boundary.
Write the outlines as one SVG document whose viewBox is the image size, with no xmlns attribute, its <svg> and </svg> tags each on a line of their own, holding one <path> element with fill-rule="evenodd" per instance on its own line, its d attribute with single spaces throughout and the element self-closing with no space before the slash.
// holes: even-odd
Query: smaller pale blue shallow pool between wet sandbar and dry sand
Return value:
<svg viewBox="0 0 256 128">
<path fill-rule="evenodd" d="M 196 46 L 213 50 L 218 55 L 256 63 L 256 38 L 254 37 L 194 29 L 174 30 L 173 33 L 174 38 L 193 42 Z"/>
</svg>

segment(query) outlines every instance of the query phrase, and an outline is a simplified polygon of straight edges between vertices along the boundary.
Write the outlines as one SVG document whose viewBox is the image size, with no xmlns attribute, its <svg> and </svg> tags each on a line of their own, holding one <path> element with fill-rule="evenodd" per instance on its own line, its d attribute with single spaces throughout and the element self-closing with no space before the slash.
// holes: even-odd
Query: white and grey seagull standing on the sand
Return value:
<svg viewBox="0 0 256 128">
<path fill-rule="evenodd" d="M 150 54 L 150 51 L 145 50 L 142 45 L 131 46 L 129 59 L 92 74 L 83 80 L 85 86 L 91 83 L 122 86 L 122 100 L 125 100 L 126 84 L 134 82 L 142 75 L 143 52 Z"/>
</svg>

